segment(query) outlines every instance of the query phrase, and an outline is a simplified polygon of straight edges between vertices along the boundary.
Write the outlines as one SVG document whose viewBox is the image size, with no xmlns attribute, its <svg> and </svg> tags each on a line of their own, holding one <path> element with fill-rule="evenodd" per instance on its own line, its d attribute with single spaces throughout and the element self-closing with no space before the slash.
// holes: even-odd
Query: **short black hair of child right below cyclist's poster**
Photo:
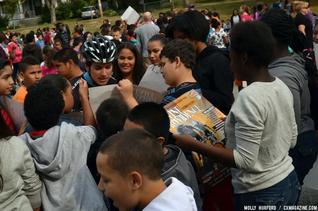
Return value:
<svg viewBox="0 0 318 211">
<path fill-rule="evenodd" d="M 116 134 L 124 128 L 128 114 L 127 105 L 116 98 L 104 100 L 96 111 L 96 120 L 100 132 L 107 137 Z"/>
</svg>

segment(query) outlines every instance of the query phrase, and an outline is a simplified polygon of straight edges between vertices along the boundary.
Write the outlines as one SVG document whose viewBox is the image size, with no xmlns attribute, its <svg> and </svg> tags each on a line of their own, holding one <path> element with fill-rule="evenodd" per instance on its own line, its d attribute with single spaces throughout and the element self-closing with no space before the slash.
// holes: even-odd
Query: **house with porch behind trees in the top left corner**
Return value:
<svg viewBox="0 0 318 211">
<path fill-rule="evenodd" d="M 57 0 L 57 2 L 66 2 L 68 0 Z M 7 15 L 5 10 L 2 7 L 3 0 L 0 0 L 0 16 Z M 37 18 L 41 17 L 43 14 L 42 7 L 45 5 L 45 0 L 25 0 L 21 4 L 21 0 L 19 0 L 19 4 L 17 5 L 18 10 L 14 15 L 14 23 L 15 25 L 19 25 L 20 21 L 25 18 Z M 57 5 L 56 5 L 57 6 Z M 10 23 L 12 25 L 12 23 Z"/>
</svg>

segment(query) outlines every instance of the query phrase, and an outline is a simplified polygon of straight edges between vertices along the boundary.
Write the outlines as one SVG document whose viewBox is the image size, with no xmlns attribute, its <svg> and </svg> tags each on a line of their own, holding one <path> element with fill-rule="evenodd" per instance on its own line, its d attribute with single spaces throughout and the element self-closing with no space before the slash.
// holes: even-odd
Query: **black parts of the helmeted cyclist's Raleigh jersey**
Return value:
<svg viewBox="0 0 318 211">
<path fill-rule="evenodd" d="M 79 80 L 81 78 L 85 80 L 84 74 L 70 80 L 70 83 L 72 85 L 72 90 L 73 90 L 73 98 L 74 98 L 74 106 L 73 106 L 72 112 L 82 111 L 82 103 L 80 102 L 80 99 L 79 99 Z M 113 77 L 110 77 L 106 85 L 112 85 L 112 84 L 118 84 L 118 83 Z M 88 83 L 87 85 L 88 85 L 88 88 L 93 87 L 92 85 Z"/>
</svg>

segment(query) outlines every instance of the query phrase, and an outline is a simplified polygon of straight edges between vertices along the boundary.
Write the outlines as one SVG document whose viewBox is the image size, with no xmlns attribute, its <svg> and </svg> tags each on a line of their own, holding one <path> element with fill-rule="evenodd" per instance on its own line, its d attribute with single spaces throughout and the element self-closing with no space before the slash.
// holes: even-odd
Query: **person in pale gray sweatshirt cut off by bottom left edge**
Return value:
<svg viewBox="0 0 318 211">
<path fill-rule="evenodd" d="M 40 211 L 41 186 L 30 150 L 0 113 L 0 210 Z"/>
</svg>

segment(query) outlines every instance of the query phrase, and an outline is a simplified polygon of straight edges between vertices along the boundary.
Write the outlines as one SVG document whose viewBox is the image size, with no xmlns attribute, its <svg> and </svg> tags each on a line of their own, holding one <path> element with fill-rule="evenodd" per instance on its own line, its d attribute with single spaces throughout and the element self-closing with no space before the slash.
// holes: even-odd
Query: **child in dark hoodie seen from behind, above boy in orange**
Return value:
<svg viewBox="0 0 318 211">
<path fill-rule="evenodd" d="M 22 56 L 23 57 L 33 56 L 33 57 L 37 58 L 40 61 L 40 63 L 44 62 L 42 49 L 37 44 L 35 44 L 34 34 L 28 33 L 25 38 L 26 38 L 28 44 L 26 44 L 24 46 L 23 51 L 22 51 Z"/>
</svg>

